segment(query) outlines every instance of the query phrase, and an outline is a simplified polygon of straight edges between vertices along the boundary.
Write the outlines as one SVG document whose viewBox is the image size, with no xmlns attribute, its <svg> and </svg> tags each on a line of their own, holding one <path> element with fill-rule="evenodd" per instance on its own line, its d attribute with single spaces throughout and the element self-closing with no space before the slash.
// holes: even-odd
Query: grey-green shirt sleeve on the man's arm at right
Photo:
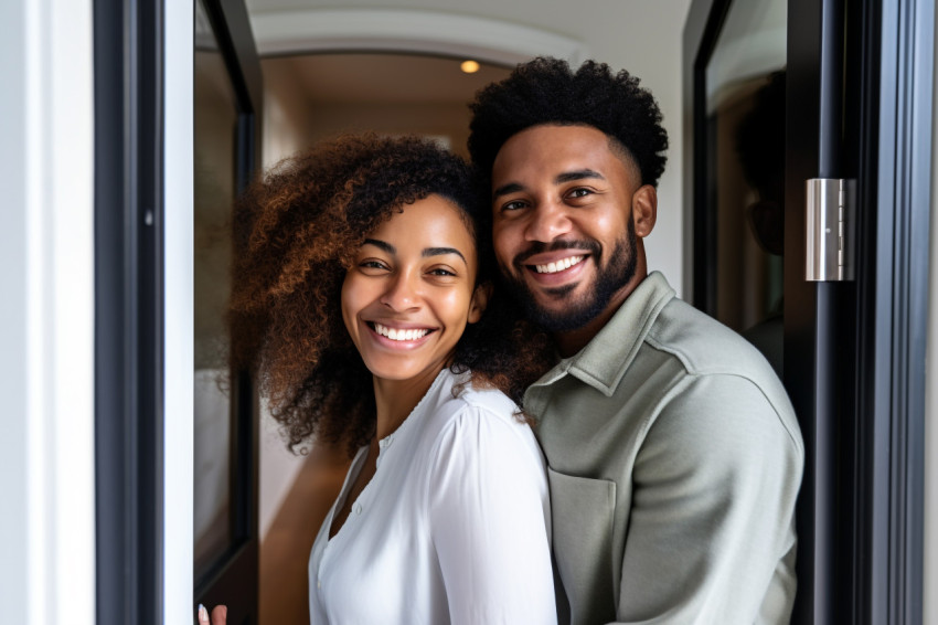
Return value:
<svg viewBox="0 0 938 625">
<path fill-rule="evenodd" d="M 694 380 L 636 458 L 620 623 L 788 623 L 803 447 L 752 381 Z"/>
</svg>

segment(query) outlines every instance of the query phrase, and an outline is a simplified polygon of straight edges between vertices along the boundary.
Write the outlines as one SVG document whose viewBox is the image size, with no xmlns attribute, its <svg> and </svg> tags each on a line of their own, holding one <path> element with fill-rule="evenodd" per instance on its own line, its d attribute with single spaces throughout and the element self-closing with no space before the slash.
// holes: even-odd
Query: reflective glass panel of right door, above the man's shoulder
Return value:
<svg viewBox="0 0 938 625">
<path fill-rule="evenodd" d="M 733 2 L 706 66 L 715 316 L 781 374 L 787 2 Z"/>
</svg>

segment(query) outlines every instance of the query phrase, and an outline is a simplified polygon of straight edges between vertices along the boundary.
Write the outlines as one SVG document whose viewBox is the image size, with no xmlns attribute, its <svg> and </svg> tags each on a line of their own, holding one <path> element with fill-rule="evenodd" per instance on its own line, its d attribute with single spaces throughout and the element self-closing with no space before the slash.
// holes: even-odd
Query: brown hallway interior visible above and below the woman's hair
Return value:
<svg viewBox="0 0 938 625">
<path fill-rule="evenodd" d="M 361 131 L 417 134 L 468 158 L 468 104 L 509 68 L 486 62 L 463 67 L 466 61 L 475 60 L 404 53 L 264 59 L 264 166 Z M 259 622 L 302 623 L 309 550 L 350 458 L 344 448 L 315 443 L 290 452 L 263 410 L 259 431 Z"/>
</svg>

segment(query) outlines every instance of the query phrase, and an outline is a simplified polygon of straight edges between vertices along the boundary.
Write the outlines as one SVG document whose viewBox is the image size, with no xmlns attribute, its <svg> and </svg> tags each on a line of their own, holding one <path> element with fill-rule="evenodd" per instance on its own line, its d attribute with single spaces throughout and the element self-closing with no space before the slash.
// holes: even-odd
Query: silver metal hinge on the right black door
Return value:
<svg viewBox="0 0 938 625">
<path fill-rule="evenodd" d="M 853 279 L 856 181 L 840 178 L 808 180 L 808 264 L 814 282 Z"/>
</svg>

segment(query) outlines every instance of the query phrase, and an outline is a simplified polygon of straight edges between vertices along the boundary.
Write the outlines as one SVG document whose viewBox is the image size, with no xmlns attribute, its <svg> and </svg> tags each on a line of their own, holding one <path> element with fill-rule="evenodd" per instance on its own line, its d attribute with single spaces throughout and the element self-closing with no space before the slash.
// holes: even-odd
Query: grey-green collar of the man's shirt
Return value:
<svg viewBox="0 0 938 625">
<path fill-rule="evenodd" d="M 586 347 L 558 362 L 535 385 L 551 384 L 569 373 L 611 396 L 658 314 L 673 297 L 674 289 L 663 275 L 649 274 Z"/>
</svg>

